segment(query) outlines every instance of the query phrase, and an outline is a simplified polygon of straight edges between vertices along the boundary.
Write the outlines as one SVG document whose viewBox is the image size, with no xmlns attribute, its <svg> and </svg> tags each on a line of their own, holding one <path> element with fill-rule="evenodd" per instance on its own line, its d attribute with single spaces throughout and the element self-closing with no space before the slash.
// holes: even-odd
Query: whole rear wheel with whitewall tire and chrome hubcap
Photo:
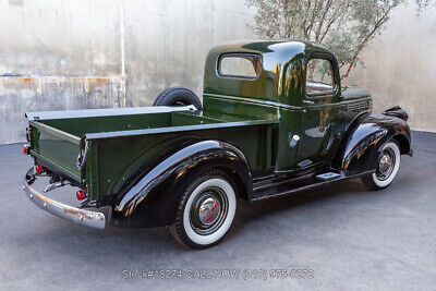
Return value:
<svg viewBox="0 0 436 291">
<path fill-rule="evenodd" d="M 170 227 L 182 245 L 192 248 L 213 246 L 230 229 L 237 211 L 235 186 L 219 170 L 196 177 L 185 189 L 175 218 Z"/>
</svg>

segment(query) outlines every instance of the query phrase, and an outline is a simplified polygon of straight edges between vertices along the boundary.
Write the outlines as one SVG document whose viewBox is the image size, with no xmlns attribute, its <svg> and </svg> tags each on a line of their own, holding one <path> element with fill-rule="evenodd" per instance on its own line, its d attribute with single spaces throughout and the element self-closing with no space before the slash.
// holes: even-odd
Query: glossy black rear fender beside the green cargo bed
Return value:
<svg viewBox="0 0 436 291">
<path fill-rule="evenodd" d="M 208 168 L 232 171 L 250 198 L 252 177 L 244 154 L 220 141 L 196 141 L 142 173 L 113 205 L 111 222 L 120 227 L 161 227 L 175 221 L 178 201 L 191 179 Z"/>
</svg>

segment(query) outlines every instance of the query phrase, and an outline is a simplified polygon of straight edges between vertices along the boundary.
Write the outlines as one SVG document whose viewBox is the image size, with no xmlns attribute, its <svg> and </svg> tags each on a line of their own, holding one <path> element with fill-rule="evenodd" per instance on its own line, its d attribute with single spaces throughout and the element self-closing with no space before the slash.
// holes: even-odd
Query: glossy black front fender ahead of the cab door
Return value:
<svg viewBox="0 0 436 291">
<path fill-rule="evenodd" d="M 344 133 L 332 166 L 350 174 L 374 171 L 383 145 L 391 138 L 399 144 L 402 154 L 411 153 L 411 133 L 404 120 L 391 116 L 367 116 L 358 120 Z"/>
</svg>

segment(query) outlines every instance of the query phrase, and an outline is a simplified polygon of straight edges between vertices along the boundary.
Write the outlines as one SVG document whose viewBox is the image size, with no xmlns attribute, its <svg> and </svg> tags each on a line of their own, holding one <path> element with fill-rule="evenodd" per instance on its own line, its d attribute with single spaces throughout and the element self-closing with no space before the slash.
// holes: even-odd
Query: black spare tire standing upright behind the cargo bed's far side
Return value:
<svg viewBox="0 0 436 291">
<path fill-rule="evenodd" d="M 202 110 L 202 101 L 190 89 L 183 87 L 171 87 L 165 89 L 157 96 L 153 106 L 186 106 L 193 105 L 196 109 Z"/>
</svg>

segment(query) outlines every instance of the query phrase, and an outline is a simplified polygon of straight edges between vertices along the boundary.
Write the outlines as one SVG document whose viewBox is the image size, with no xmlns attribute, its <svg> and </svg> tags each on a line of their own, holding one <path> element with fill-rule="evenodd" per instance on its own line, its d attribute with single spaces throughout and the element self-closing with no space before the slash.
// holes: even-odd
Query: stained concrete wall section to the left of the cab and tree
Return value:
<svg viewBox="0 0 436 291">
<path fill-rule="evenodd" d="M 253 38 L 243 0 L 0 1 L 0 144 L 24 141 L 24 112 L 150 105 L 198 95 L 215 44 Z"/>
</svg>

